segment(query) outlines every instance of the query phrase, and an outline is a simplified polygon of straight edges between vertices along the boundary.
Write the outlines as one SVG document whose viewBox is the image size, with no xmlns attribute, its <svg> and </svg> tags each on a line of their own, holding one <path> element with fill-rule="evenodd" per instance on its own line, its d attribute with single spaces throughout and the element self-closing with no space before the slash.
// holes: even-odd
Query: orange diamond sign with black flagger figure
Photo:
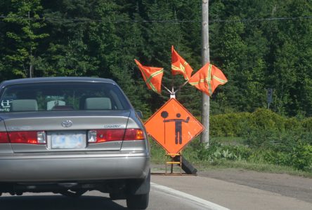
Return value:
<svg viewBox="0 0 312 210">
<path fill-rule="evenodd" d="M 168 153 L 178 153 L 204 127 L 176 99 L 169 99 L 146 122 L 148 134 Z"/>
</svg>

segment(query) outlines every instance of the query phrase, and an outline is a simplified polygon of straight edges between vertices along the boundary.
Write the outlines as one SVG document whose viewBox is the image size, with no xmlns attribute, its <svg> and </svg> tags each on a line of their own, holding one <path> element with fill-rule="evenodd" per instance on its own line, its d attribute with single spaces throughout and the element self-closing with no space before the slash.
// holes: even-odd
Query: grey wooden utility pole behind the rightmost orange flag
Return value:
<svg viewBox="0 0 312 210">
<path fill-rule="evenodd" d="M 210 62 L 209 57 L 209 0 L 202 0 L 202 66 Z M 209 110 L 210 99 L 207 94 L 202 93 L 202 125 L 204 131 L 200 141 L 209 146 Z"/>
</svg>

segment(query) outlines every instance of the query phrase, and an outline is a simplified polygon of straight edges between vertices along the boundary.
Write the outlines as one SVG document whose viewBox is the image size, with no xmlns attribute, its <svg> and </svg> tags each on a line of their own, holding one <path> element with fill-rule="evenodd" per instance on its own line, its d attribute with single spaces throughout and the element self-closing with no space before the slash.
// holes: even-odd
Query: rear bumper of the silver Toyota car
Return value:
<svg viewBox="0 0 312 210">
<path fill-rule="evenodd" d="M 0 156 L 0 182 L 144 179 L 148 153 Z"/>
</svg>

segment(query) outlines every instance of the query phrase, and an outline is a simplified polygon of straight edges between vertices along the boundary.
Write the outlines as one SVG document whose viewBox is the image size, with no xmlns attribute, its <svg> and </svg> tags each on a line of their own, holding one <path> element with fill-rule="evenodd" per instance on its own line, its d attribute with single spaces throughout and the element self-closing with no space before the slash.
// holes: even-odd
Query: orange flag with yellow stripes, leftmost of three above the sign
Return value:
<svg viewBox="0 0 312 210">
<path fill-rule="evenodd" d="M 158 94 L 161 94 L 162 87 L 162 75 L 164 74 L 164 68 L 143 66 L 137 59 L 134 59 L 140 69 L 143 79 L 148 85 L 148 89 L 152 89 Z"/>
</svg>

